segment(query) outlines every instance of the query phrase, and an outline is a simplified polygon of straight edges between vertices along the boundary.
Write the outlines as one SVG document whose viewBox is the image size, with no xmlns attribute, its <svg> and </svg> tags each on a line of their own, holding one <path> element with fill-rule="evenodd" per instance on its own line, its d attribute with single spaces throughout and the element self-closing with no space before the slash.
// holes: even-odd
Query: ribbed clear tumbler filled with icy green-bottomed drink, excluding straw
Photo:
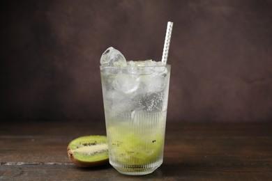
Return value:
<svg viewBox="0 0 272 181">
<path fill-rule="evenodd" d="M 170 65 L 100 67 L 109 163 L 126 175 L 163 163 Z"/>
</svg>

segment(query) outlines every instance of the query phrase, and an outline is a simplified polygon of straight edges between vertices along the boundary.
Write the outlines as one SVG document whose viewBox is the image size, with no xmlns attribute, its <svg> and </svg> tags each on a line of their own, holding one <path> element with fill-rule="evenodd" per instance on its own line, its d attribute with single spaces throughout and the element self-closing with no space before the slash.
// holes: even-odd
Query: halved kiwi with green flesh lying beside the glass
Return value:
<svg viewBox="0 0 272 181">
<path fill-rule="evenodd" d="M 71 162 L 81 167 L 99 166 L 109 162 L 107 136 L 82 136 L 71 141 L 67 148 Z"/>
</svg>

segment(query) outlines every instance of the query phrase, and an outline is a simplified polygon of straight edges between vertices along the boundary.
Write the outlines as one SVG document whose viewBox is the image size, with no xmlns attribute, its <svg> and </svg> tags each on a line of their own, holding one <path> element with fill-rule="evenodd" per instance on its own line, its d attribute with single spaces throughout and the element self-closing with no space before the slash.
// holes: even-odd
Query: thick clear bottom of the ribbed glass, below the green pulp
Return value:
<svg viewBox="0 0 272 181">
<path fill-rule="evenodd" d="M 109 161 L 109 163 L 116 169 L 116 171 L 125 175 L 147 175 L 149 173 L 153 173 L 153 171 L 163 164 L 163 160 L 146 165 L 123 165 L 116 164 L 111 161 Z"/>
</svg>

